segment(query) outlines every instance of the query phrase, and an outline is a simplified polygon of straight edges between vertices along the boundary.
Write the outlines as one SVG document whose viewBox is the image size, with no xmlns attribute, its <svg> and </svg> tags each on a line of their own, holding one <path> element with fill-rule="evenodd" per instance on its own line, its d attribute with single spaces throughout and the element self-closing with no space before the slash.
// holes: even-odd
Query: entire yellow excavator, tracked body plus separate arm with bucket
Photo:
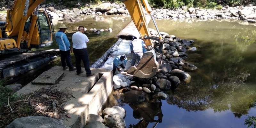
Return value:
<svg viewBox="0 0 256 128">
<path fill-rule="evenodd" d="M 12 8 L 7 11 L 6 22 L 0 23 L 0 78 L 13 78 L 49 63 L 57 57 L 59 49 L 28 52 L 31 48 L 48 47 L 53 43 L 54 30 L 51 16 L 38 9 L 38 5 L 43 1 L 14 0 Z M 159 37 L 150 36 L 140 0 L 120 1 L 124 2 L 141 38 L 148 47 L 139 64 L 136 67 L 132 66 L 127 73 L 140 78 L 151 78 L 161 66 L 164 43 L 151 14 L 152 9 L 148 1 L 143 0 Z M 30 22 L 28 30 L 24 29 L 26 21 Z M 158 41 L 159 47 L 154 46 L 152 40 Z"/>
</svg>

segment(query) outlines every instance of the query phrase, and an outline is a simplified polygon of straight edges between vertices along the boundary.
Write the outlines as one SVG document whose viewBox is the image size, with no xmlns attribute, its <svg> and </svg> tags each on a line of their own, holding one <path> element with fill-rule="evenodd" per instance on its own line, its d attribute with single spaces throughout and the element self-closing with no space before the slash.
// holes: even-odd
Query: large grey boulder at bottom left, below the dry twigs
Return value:
<svg viewBox="0 0 256 128">
<path fill-rule="evenodd" d="M 68 128 L 60 121 L 45 116 L 27 116 L 17 118 L 5 128 Z"/>
</svg>

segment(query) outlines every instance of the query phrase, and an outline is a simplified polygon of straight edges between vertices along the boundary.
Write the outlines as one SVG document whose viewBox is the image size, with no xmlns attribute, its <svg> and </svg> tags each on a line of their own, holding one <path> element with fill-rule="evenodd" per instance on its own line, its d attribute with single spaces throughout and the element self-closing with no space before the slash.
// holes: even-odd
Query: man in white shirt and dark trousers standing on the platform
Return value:
<svg viewBox="0 0 256 128">
<path fill-rule="evenodd" d="M 72 42 L 73 42 L 73 52 L 76 58 L 76 74 L 79 75 L 83 73 L 81 68 L 81 60 L 84 63 L 84 69 L 86 71 L 86 76 L 93 76 L 94 73 L 91 72 L 90 66 L 89 66 L 89 56 L 88 52 L 86 50 L 87 45 L 86 43 L 89 42 L 88 37 L 84 34 L 84 27 L 79 26 L 76 33 L 72 36 Z"/>
</svg>

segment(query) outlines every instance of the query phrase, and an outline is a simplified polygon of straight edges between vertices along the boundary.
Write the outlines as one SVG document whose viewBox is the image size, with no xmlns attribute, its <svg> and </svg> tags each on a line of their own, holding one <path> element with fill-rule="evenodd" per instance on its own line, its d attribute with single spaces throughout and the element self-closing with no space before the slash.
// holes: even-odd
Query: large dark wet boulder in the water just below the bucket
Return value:
<svg viewBox="0 0 256 128">
<path fill-rule="evenodd" d="M 146 100 L 146 94 L 142 91 L 132 90 L 124 93 L 124 100 L 130 103 L 139 103 Z"/>
</svg>

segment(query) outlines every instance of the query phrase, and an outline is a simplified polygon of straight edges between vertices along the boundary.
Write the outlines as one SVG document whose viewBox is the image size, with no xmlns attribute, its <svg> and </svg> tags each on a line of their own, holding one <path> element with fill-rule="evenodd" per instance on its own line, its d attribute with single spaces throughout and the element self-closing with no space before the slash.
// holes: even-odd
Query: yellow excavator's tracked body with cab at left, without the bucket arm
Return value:
<svg viewBox="0 0 256 128">
<path fill-rule="evenodd" d="M 53 43 L 51 16 L 38 8 L 43 1 L 14 0 L 6 22 L 0 22 L 0 78 L 13 78 L 57 58 L 59 49 L 29 52 Z"/>
</svg>

